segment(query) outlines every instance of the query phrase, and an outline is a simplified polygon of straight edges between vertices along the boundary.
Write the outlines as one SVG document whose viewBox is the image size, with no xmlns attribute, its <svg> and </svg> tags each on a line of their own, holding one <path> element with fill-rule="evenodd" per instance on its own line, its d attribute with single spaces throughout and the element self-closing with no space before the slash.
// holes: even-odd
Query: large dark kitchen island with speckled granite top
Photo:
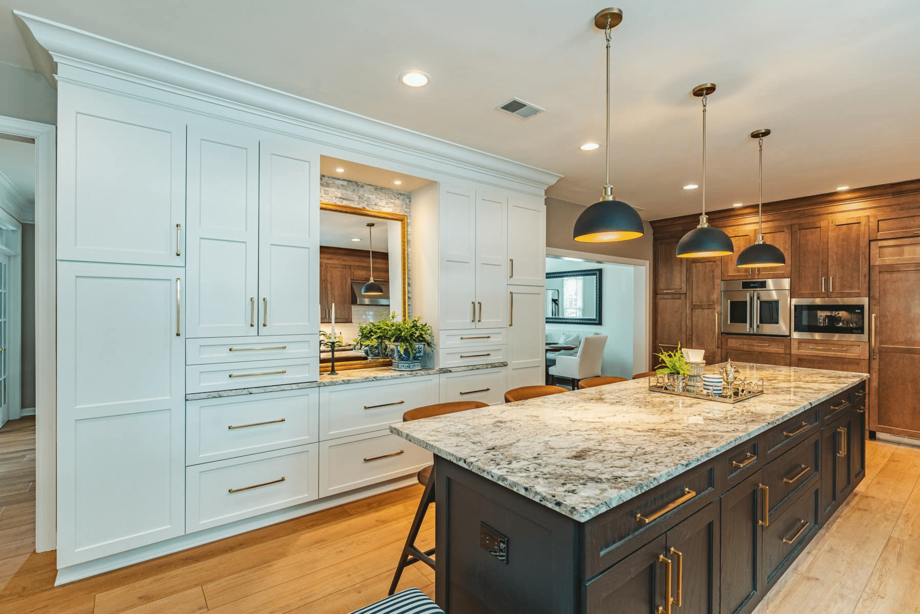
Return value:
<svg viewBox="0 0 920 614">
<path fill-rule="evenodd" d="M 738 366 L 765 394 L 634 380 L 391 426 L 435 455 L 439 604 L 753 610 L 865 473 L 866 376 Z"/>
</svg>

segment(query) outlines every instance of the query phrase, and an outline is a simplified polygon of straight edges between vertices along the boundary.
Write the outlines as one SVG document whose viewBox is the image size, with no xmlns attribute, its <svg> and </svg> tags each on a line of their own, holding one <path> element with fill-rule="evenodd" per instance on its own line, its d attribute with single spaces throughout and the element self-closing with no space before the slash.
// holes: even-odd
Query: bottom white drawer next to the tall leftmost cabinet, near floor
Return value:
<svg viewBox="0 0 920 614">
<path fill-rule="evenodd" d="M 196 465 L 186 471 L 186 533 L 317 498 L 319 444 Z"/>
</svg>

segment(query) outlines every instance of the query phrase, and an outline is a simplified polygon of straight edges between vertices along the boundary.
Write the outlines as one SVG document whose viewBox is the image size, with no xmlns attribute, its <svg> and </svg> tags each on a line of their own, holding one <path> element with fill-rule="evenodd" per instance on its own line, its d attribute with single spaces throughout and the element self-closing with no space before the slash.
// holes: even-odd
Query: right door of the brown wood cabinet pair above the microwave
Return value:
<svg viewBox="0 0 920 614">
<path fill-rule="evenodd" d="M 827 225 L 827 295 L 868 296 L 868 215 Z"/>
</svg>

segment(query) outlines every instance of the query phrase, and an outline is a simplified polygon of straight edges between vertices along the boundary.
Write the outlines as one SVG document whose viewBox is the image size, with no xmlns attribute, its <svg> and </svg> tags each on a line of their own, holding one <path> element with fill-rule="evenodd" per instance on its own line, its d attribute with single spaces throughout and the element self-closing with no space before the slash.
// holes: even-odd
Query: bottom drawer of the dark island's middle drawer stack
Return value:
<svg viewBox="0 0 920 614">
<path fill-rule="evenodd" d="M 820 484 L 814 484 L 764 529 L 766 585 L 773 585 L 818 532 Z"/>
</svg>

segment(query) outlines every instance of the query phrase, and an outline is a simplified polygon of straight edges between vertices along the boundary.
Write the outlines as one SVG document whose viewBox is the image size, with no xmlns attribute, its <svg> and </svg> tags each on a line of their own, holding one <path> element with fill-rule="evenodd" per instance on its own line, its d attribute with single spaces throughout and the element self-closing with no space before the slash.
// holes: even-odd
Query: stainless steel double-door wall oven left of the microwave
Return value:
<svg viewBox="0 0 920 614">
<path fill-rule="evenodd" d="M 722 282 L 722 332 L 789 336 L 789 279 Z"/>
</svg>

